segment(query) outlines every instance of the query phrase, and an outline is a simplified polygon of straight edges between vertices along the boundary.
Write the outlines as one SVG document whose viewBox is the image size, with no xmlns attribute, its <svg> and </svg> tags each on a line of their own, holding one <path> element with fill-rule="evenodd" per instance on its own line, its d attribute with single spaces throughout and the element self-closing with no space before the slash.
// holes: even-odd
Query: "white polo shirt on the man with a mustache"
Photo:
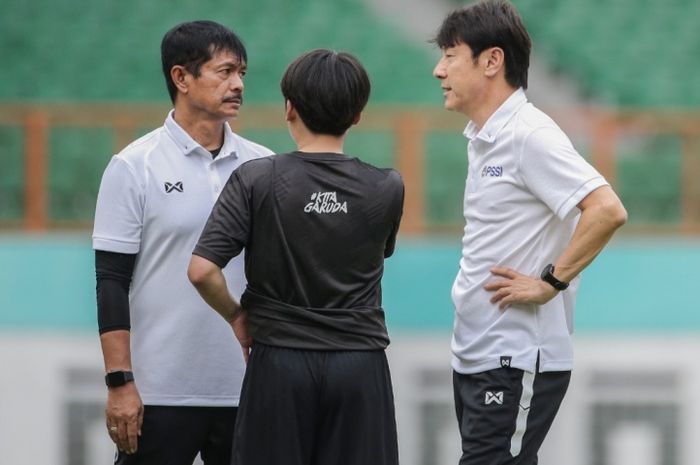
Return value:
<svg viewBox="0 0 700 465">
<path fill-rule="evenodd" d="M 219 155 L 168 115 L 115 155 L 97 197 L 93 248 L 138 254 L 129 292 L 131 357 L 147 405 L 236 406 L 245 370 L 231 327 L 199 296 L 187 267 L 214 202 L 235 168 L 272 154 L 225 125 Z M 224 269 L 245 287 L 243 257 Z"/>
</svg>

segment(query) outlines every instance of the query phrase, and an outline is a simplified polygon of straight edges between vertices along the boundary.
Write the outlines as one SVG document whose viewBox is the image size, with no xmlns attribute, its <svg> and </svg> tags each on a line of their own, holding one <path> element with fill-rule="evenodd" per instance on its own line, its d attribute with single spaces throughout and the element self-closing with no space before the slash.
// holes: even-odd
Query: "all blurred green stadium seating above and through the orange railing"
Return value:
<svg viewBox="0 0 700 465">
<path fill-rule="evenodd" d="M 535 51 L 575 79 L 584 98 L 632 107 L 700 106 L 700 1 L 515 3 Z M 286 65 L 317 47 L 347 50 L 363 61 L 373 84 L 371 104 L 441 103 L 431 76 L 432 46 L 402 36 L 365 0 L 6 0 L 3 7 L 0 51 L 11 72 L 0 86 L 0 102 L 167 102 L 162 35 L 178 22 L 201 18 L 227 24 L 244 39 L 246 104 L 281 107 L 279 79 Z M 243 135 L 276 151 L 293 148 L 286 131 L 244 125 Z M 52 220 L 92 219 L 101 173 L 113 151 L 111 137 L 102 130 L 52 130 Z M 19 129 L 0 127 L 0 221 L 23 216 L 22 143 Z M 346 151 L 395 166 L 393 143 L 389 133 L 360 125 L 350 133 Z M 466 142 L 459 133 L 434 133 L 425 149 L 427 219 L 459 224 Z M 632 222 L 677 221 L 678 154 L 677 141 L 655 140 L 622 154 L 617 187 Z M 658 170 L 663 179 L 655 176 Z"/>
</svg>

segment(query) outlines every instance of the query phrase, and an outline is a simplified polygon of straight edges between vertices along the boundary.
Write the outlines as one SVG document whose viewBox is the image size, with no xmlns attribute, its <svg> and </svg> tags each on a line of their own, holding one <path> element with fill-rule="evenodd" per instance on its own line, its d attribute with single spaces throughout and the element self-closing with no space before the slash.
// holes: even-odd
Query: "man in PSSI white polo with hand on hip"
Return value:
<svg viewBox="0 0 700 465">
<path fill-rule="evenodd" d="M 535 465 L 572 369 L 578 275 L 627 213 L 527 101 L 530 38 L 514 6 L 450 13 L 433 74 L 470 118 L 460 268 L 452 288 L 462 465 Z"/>
</svg>

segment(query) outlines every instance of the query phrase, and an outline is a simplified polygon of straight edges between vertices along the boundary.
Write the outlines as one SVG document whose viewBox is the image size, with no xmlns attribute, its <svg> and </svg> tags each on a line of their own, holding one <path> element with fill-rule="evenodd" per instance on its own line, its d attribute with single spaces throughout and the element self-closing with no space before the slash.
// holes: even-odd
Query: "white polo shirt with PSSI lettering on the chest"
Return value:
<svg viewBox="0 0 700 465">
<path fill-rule="evenodd" d="M 545 305 L 499 310 L 484 285 L 505 266 L 539 277 L 568 244 L 576 205 L 605 179 L 562 130 L 518 89 L 479 130 L 470 122 L 462 259 L 452 287 L 452 366 L 470 374 L 501 366 L 571 370 L 578 278 Z"/>
</svg>

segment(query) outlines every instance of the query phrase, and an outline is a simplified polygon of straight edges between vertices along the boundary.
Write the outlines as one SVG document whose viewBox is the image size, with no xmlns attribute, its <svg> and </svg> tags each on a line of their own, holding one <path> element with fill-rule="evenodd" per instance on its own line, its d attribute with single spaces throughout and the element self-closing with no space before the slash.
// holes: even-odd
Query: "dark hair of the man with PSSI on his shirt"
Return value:
<svg viewBox="0 0 700 465">
<path fill-rule="evenodd" d="M 472 58 L 491 47 L 503 49 L 506 81 L 527 89 L 532 42 L 515 6 L 506 0 L 483 0 L 448 14 L 433 39 L 441 49 L 459 43 L 469 46 Z"/>
</svg>

